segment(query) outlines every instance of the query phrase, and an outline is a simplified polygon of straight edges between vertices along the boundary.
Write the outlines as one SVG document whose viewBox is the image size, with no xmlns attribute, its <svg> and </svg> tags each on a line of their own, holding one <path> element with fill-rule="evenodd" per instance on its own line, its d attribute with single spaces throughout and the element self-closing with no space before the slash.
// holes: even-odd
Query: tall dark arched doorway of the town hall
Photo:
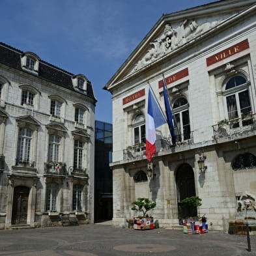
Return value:
<svg viewBox="0 0 256 256">
<path fill-rule="evenodd" d="M 182 219 L 188 216 L 197 216 L 197 207 L 188 207 L 180 202 L 186 197 L 195 195 L 195 177 L 193 169 L 188 164 L 182 164 L 176 172 L 177 184 L 177 203 L 178 203 L 178 220 L 182 223 Z"/>
</svg>

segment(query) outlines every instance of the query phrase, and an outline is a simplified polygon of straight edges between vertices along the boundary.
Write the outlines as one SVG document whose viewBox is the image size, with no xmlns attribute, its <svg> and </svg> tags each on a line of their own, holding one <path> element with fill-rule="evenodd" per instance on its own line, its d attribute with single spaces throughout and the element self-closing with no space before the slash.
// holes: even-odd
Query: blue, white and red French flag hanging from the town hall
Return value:
<svg viewBox="0 0 256 256">
<path fill-rule="evenodd" d="M 158 106 L 149 88 L 148 112 L 146 122 L 146 157 L 151 161 L 156 154 L 156 128 L 167 123 L 164 114 Z"/>
</svg>

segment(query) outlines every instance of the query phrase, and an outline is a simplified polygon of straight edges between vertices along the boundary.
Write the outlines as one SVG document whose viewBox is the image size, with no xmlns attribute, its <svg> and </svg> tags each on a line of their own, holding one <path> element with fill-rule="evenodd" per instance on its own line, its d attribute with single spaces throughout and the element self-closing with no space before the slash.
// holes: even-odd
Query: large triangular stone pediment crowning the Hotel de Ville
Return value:
<svg viewBox="0 0 256 256">
<path fill-rule="evenodd" d="M 208 40 L 218 29 L 232 27 L 252 8 L 256 9 L 256 1 L 224 0 L 163 15 L 104 88 L 111 91 L 159 61 Z"/>
</svg>

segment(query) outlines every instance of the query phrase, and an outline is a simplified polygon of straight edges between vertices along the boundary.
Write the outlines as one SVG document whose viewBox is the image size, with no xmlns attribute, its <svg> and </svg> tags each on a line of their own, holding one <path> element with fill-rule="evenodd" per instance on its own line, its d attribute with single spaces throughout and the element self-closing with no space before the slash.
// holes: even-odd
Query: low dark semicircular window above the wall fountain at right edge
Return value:
<svg viewBox="0 0 256 256">
<path fill-rule="evenodd" d="M 236 156 L 232 169 L 234 171 L 242 169 L 251 169 L 256 167 L 256 156 L 251 153 L 244 153 Z"/>
</svg>

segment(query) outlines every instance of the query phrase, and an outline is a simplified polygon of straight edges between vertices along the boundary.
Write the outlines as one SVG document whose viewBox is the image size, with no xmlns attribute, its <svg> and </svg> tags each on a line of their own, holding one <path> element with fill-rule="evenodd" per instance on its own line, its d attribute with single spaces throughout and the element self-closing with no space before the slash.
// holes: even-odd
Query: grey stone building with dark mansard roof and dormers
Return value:
<svg viewBox="0 0 256 256">
<path fill-rule="evenodd" d="M 0 44 L 0 228 L 94 221 L 92 83 Z"/>
</svg>

